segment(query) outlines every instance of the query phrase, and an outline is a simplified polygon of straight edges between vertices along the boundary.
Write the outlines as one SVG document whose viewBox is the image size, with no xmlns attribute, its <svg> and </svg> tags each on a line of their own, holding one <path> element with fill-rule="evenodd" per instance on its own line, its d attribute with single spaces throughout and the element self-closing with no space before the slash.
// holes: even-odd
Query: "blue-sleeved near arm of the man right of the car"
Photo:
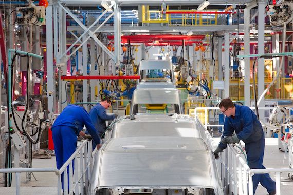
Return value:
<svg viewBox="0 0 293 195">
<path fill-rule="evenodd" d="M 237 134 L 239 140 L 246 140 L 253 132 L 253 117 L 249 107 L 241 110 L 243 116 L 243 130 Z"/>
</svg>

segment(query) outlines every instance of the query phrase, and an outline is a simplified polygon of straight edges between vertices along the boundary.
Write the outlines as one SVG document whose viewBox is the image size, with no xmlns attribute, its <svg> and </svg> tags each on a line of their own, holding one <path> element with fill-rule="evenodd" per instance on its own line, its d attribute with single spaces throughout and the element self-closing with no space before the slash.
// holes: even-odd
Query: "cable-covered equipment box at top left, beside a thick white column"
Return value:
<svg viewBox="0 0 293 195">
<path fill-rule="evenodd" d="M 40 26 L 46 24 L 45 6 L 17 7 L 16 22 L 22 25 Z"/>
</svg>

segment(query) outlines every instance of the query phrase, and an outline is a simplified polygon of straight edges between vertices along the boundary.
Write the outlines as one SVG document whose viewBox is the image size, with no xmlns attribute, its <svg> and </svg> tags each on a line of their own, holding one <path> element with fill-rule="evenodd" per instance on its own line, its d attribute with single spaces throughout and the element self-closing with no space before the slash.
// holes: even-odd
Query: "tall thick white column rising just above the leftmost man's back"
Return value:
<svg viewBox="0 0 293 195">
<path fill-rule="evenodd" d="M 53 10 L 52 4 L 49 4 L 46 8 L 46 49 L 47 49 L 47 92 L 48 92 L 48 110 L 49 119 L 52 119 L 54 106 L 56 104 L 55 99 L 55 79 L 53 68 Z"/>
</svg>

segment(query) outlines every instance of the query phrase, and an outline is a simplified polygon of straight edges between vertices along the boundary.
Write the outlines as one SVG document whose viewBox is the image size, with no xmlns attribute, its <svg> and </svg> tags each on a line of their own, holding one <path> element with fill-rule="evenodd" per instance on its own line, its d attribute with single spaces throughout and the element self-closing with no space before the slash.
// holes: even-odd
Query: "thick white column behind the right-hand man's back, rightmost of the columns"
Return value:
<svg viewBox="0 0 293 195">
<path fill-rule="evenodd" d="M 266 3 L 259 2 L 258 7 L 258 54 L 265 53 L 265 6 Z M 258 60 L 258 98 L 265 90 L 265 60 Z M 259 107 L 265 107 L 265 97 L 260 101 Z M 264 110 L 259 110 L 260 120 L 264 121 Z"/>
</svg>

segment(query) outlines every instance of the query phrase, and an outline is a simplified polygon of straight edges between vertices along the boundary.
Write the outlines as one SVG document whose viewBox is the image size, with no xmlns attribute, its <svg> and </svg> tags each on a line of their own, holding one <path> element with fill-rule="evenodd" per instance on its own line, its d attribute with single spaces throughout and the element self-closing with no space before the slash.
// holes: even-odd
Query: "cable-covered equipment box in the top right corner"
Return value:
<svg viewBox="0 0 293 195">
<path fill-rule="evenodd" d="M 292 21 L 293 3 L 268 5 L 269 21 L 273 26 L 284 26 Z"/>
</svg>

